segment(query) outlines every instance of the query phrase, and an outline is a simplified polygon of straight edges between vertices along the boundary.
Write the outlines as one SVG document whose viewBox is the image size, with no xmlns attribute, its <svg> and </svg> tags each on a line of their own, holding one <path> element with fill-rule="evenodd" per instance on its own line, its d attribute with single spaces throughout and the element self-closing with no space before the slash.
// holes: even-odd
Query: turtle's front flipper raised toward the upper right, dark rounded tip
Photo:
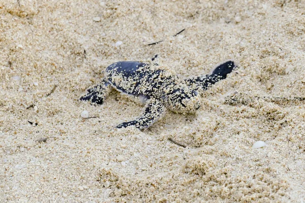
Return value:
<svg viewBox="0 0 305 203">
<path fill-rule="evenodd" d="M 190 78 L 185 80 L 186 84 L 194 89 L 206 90 L 211 85 L 214 85 L 218 81 L 227 78 L 227 75 L 237 67 L 236 62 L 233 60 L 228 60 L 220 65 L 218 65 L 211 73 L 211 75 L 199 76 L 196 78 Z"/>
</svg>

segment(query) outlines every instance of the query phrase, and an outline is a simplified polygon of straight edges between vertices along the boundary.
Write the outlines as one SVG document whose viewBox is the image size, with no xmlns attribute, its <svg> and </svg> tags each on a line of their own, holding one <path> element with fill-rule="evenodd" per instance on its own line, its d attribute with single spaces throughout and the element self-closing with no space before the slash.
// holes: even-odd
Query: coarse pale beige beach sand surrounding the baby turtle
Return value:
<svg viewBox="0 0 305 203">
<path fill-rule="evenodd" d="M 0 202 L 304 202 L 304 32 L 296 0 L 1 0 Z M 239 69 L 144 131 L 113 129 L 138 99 L 78 100 L 156 54 L 180 79 Z"/>
</svg>

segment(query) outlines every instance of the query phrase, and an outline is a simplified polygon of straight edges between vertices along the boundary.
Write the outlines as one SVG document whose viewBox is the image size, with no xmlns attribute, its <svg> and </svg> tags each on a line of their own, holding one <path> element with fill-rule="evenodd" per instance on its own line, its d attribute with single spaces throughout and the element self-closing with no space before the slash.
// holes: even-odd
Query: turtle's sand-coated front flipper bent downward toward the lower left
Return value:
<svg viewBox="0 0 305 203">
<path fill-rule="evenodd" d="M 165 106 L 160 100 L 150 98 L 145 106 L 143 115 L 133 121 L 124 122 L 116 126 L 116 128 L 135 126 L 139 129 L 149 127 L 157 120 L 161 119 L 166 113 Z"/>
</svg>

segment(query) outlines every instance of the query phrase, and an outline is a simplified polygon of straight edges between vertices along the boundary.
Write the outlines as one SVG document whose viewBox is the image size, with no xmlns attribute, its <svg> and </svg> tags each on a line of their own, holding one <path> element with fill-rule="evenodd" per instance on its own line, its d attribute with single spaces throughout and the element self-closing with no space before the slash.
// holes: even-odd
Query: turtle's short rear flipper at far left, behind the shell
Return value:
<svg viewBox="0 0 305 203">
<path fill-rule="evenodd" d="M 104 102 L 105 97 L 111 90 L 111 86 L 107 81 L 103 80 L 97 86 L 87 90 L 86 95 L 80 97 L 82 101 L 90 101 L 91 104 L 101 105 Z"/>
</svg>

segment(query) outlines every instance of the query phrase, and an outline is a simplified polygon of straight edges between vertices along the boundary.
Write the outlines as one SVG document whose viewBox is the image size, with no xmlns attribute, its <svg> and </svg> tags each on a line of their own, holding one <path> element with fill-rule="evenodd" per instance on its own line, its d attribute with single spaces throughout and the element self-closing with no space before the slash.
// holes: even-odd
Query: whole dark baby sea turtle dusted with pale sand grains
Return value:
<svg viewBox="0 0 305 203">
<path fill-rule="evenodd" d="M 179 81 L 178 77 L 153 62 L 119 61 L 109 65 L 102 82 L 87 90 L 80 100 L 101 105 L 111 88 L 128 95 L 139 96 L 146 103 L 139 118 L 124 122 L 116 128 L 135 126 L 145 128 L 164 116 L 167 110 L 175 113 L 194 113 L 200 107 L 198 89 L 223 80 L 236 67 L 233 60 L 218 65 L 210 75 Z"/>
</svg>

